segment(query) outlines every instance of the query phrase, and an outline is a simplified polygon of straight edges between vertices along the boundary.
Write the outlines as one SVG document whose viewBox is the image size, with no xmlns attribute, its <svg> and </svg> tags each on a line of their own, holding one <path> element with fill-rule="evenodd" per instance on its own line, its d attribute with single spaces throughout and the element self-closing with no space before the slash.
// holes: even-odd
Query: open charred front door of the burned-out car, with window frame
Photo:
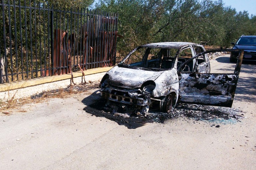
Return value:
<svg viewBox="0 0 256 170">
<path fill-rule="evenodd" d="M 189 60 L 198 58 L 209 52 L 233 51 L 232 49 L 225 50 L 210 50 L 199 53 Z M 234 100 L 237 81 L 241 69 L 243 59 L 243 50 L 240 51 L 238 62 L 235 71 L 232 74 L 219 73 L 196 73 L 183 72 L 182 67 L 189 62 L 187 60 L 178 69 L 179 75 L 179 100 L 180 103 L 191 103 L 211 106 L 232 107 Z"/>
</svg>

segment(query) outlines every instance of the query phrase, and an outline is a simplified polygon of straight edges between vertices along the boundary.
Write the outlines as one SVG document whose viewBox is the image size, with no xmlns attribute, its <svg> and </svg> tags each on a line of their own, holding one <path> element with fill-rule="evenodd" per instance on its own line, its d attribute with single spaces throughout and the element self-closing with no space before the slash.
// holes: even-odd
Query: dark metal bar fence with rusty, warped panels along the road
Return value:
<svg viewBox="0 0 256 170">
<path fill-rule="evenodd" d="M 118 15 L 1 1 L 0 83 L 115 64 Z"/>
</svg>

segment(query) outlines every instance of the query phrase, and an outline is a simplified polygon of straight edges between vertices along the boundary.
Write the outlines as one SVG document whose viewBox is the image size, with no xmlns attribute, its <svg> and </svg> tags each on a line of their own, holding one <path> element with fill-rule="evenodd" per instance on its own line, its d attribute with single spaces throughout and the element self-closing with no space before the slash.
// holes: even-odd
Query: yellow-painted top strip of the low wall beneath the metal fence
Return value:
<svg viewBox="0 0 256 170">
<path fill-rule="evenodd" d="M 100 68 L 92 68 L 84 71 L 85 75 L 91 75 L 91 74 L 97 74 L 97 73 L 102 73 L 102 72 L 107 72 L 110 70 L 112 67 L 100 67 Z M 80 77 L 83 76 L 82 71 L 78 72 L 73 72 L 73 77 Z M 35 86 L 39 84 L 44 84 L 44 83 L 50 83 L 50 82 L 55 82 L 55 81 L 60 81 L 60 80 L 66 80 L 70 79 L 71 74 L 64 74 L 64 75 L 59 75 L 59 76 L 47 76 L 47 77 L 40 77 L 40 78 L 34 78 L 34 79 L 29 79 L 29 80 L 21 80 L 21 81 L 16 81 L 16 82 L 11 82 L 11 83 L 5 83 L 5 84 L 0 84 L 0 92 L 3 91 L 8 91 L 8 90 L 15 90 L 19 88 L 25 88 L 29 86 Z"/>
</svg>

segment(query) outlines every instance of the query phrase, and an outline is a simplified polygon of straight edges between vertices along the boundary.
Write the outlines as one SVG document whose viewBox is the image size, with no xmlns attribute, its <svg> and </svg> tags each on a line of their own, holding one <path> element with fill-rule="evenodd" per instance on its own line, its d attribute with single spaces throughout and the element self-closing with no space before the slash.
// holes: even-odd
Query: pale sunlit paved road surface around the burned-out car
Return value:
<svg viewBox="0 0 256 170">
<path fill-rule="evenodd" d="M 232 66 L 226 56 L 211 61 L 212 72 Z M 0 169 L 254 170 L 255 68 L 242 64 L 233 103 L 244 115 L 241 122 L 181 117 L 129 129 L 83 111 L 98 89 L 18 109 L 26 113 L 0 114 Z"/>
</svg>

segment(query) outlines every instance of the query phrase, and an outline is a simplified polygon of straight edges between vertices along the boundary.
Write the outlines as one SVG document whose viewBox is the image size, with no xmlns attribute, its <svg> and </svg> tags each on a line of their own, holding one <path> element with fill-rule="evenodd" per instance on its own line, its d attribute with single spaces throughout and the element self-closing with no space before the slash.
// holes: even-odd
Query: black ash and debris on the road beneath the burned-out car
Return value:
<svg viewBox="0 0 256 170">
<path fill-rule="evenodd" d="M 243 118 L 242 111 L 237 109 L 194 104 L 180 104 L 170 114 L 150 111 L 146 116 L 136 112 L 136 109 L 134 110 L 134 108 L 132 109 L 132 107 L 126 107 L 124 105 L 115 105 L 114 108 L 106 107 L 104 100 L 99 100 L 85 107 L 84 110 L 95 116 L 113 120 L 127 128 L 135 128 L 133 126 L 134 123 L 164 123 L 167 120 L 174 120 L 180 117 L 213 123 L 235 123 L 241 122 L 239 119 Z"/>
</svg>

